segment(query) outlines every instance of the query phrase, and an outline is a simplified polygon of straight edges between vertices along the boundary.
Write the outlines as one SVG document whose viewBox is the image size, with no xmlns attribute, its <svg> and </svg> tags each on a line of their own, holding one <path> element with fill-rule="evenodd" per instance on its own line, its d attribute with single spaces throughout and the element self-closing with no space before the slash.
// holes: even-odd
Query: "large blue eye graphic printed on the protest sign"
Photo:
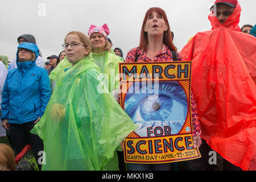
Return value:
<svg viewBox="0 0 256 182">
<path fill-rule="evenodd" d="M 177 134 L 187 118 L 187 96 L 176 81 L 135 83 L 127 92 L 125 111 L 139 126 L 135 133 L 141 137 L 147 137 L 148 127 L 157 126 L 170 126 L 171 134 Z"/>
</svg>

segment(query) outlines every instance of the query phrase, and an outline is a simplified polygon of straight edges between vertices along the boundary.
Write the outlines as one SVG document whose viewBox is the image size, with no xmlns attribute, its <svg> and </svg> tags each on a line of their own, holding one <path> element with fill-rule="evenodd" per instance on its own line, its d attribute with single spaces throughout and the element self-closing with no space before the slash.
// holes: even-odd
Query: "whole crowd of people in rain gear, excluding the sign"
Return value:
<svg viewBox="0 0 256 182">
<path fill-rule="evenodd" d="M 181 52 L 159 7 L 144 15 L 139 46 L 126 59 L 112 48 L 107 24 L 92 24 L 88 36 L 69 32 L 64 51 L 46 63 L 34 36 L 19 36 L 8 69 L 0 61 L 0 137 L 11 146 L 0 144 L 0 170 L 15 170 L 14 157 L 27 144 L 36 160 L 46 152 L 42 170 L 178 170 L 178 162 L 124 162 L 123 140 L 138 126 L 119 106 L 119 63 L 184 60 L 192 60 L 192 138 L 201 158 L 182 169 L 211 170 L 214 150 L 223 170 L 256 170 L 255 26 L 238 26 L 237 0 L 217 0 L 210 11 L 212 30 Z"/>
</svg>

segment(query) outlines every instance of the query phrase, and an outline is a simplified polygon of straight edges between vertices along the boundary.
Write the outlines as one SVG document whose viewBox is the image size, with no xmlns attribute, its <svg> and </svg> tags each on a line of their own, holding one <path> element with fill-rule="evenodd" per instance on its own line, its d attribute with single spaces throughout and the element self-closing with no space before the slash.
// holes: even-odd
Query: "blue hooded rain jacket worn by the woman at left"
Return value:
<svg viewBox="0 0 256 182">
<path fill-rule="evenodd" d="M 22 43 L 39 56 L 36 44 Z M 16 53 L 18 60 L 18 51 Z M 35 59 L 35 60 L 36 60 Z M 18 68 L 9 71 L 2 92 L 2 117 L 9 123 L 21 125 L 42 117 L 51 97 L 51 86 L 47 70 L 38 67 L 35 61 L 18 62 Z"/>
</svg>

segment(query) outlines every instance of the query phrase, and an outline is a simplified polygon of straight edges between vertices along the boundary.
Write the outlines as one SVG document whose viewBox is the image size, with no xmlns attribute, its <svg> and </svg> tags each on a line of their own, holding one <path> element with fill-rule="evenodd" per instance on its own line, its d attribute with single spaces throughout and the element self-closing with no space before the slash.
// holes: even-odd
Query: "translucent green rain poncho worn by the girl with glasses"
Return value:
<svg viewBox="0 0 256 182">
<path fill-rule="evenodd" d="M 44 142 L 42 170 L 118 170 L 115 150 L 137 126 L 102 80 L 90 56 L 61 74 L 31 131 Z"/>
</svg>

